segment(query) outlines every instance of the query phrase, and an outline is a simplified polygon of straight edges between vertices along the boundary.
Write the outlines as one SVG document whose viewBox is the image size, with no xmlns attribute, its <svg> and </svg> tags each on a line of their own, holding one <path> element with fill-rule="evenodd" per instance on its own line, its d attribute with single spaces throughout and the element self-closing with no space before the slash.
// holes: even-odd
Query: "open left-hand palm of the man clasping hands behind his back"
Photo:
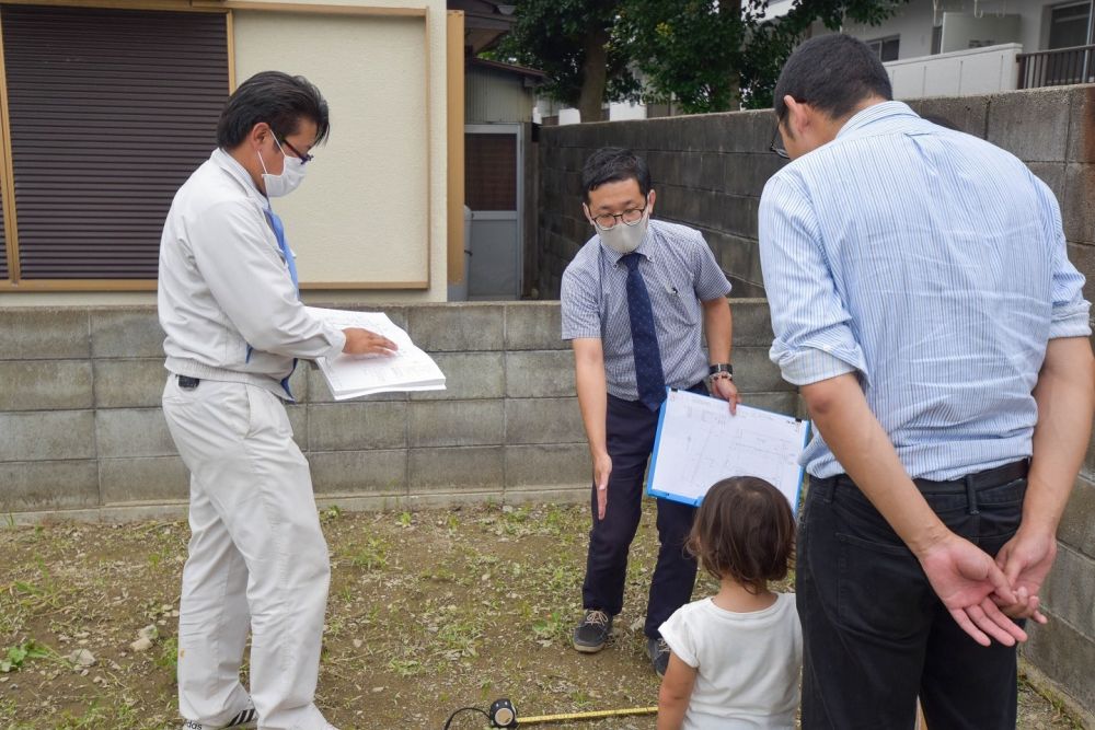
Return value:
<svg viewBox="0 0 1095 730">
<path fill-rule="evenodd" d="M 1026 633 L 998 607 L 1018 603 L 1004 572 L 967 540 L 948 533 L 917 556 L 927 580 L 963 630 L 983 647 L 1026 641 Z"/>
</svg>

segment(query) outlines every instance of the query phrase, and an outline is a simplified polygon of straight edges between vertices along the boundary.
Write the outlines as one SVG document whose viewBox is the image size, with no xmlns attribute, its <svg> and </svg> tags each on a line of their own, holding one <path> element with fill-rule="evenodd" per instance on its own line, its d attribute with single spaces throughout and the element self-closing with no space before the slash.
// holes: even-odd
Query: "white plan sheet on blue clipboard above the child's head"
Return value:
<svg viewBox="0 0 1095 730">
<path fill-rule="evenodd" d="M 758 476 L 770 482 L 797 512 L 809 421 L 687 391 L 669 391 L 646 482 L 647 494 L 699 505 L 716 482 Z"/>
</svg>

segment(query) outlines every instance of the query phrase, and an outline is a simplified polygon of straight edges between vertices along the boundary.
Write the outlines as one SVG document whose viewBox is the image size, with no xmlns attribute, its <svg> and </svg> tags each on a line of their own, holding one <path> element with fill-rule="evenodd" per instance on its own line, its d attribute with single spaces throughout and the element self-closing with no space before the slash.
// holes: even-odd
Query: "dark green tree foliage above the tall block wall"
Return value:
<svg viewBox="0 0 1095 730">
<path fill-rule="evenodd" d="M 545 93 L 599 118 L 604 101 L 675 100 L 687 113 L 770 106 L 780 69 L 815 21 L 877 25 L 908 0 L 521 0 L 500 55 L 541 69 Z"/>
</svg>

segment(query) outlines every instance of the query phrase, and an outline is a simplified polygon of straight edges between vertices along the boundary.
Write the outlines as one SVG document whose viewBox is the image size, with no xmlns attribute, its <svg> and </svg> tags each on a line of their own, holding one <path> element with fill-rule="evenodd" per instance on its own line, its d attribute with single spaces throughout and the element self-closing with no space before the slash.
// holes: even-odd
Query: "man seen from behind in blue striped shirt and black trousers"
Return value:
<svg viewBox="0 0 1095 730">
<path fill-rule="evenodd" d="M 849 36 L 796 50 L 775 100 L 793 162 L 760 209 L 771 356 L 818 431 L 803 727 L 911 728 L 919 695 L 932 730 L 1014 728 L 1015 644 L 1045 622 L 1095 409 L 1057 201 L 1013 155 L 890 101 Z"/>
</svg>

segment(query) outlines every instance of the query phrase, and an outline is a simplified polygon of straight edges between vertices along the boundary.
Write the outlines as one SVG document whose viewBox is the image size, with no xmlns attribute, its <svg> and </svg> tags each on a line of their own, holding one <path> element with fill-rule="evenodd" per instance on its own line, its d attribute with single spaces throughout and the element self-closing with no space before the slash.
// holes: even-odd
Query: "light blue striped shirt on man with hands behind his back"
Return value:
<svg viewBox="0 0 1095 730">
<path fill-rule="evenodd" d="M 772 360 L 803 385 L 855 372 L 912 477 L 1031 453 L 1054 337 L 1091 334 L 1052 193 L 1014 155 L 871 106 L 764 188 Z M 820 437 L 810 474 L 843 471 Z"/>
</svg>

